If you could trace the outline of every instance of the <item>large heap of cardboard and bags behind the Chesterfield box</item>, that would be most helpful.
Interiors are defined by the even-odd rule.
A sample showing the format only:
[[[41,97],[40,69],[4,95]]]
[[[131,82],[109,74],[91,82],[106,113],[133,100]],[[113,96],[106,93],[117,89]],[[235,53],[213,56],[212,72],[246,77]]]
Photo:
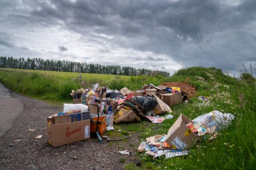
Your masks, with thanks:
[[[163,113],[172,113],[170,106],[183,101],[180,88],[166,86],[143,85],[140,90],[131,91],[124,87],[121,90],[111,90],[95,84],[89,89],[72,90],[73,103],[82,103],[89,108],[91,114],[106,115],[107,126],[113,122],[131,123],[141,119],[160,123],[172,115],[159,117]]]

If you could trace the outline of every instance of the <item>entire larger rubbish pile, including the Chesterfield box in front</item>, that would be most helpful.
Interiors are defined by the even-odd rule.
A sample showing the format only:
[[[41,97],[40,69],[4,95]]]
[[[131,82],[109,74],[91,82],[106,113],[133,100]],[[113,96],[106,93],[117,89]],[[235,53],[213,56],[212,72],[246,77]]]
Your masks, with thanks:
[[[161,123],[173,116],[160,115],[172,113],[170,106],[183,101],[179,87],[152,84],[134,91],[126,87],[111,90],[95,84],[88,89],[72,90],[70,94],[73,104],[64,103],[63,112],[47,117],[47,141],[54,147],[88,139],[91,133],[95,133],[101,143],[106,130],[114,130],[113,123],[142,119]]]

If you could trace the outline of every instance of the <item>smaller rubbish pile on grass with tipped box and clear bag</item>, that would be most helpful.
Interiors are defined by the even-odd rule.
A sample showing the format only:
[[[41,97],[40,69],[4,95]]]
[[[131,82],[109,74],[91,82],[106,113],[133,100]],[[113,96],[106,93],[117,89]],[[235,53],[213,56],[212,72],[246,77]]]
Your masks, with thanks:
[[[234,116],[230,113],[223,114],[213,111],[191,121],[188,117],[180,114],[177,121],[163,135],[155,135],[141,142],[138,152],[145,151],[146,154],[156,159],[165,155],[165,158],[186,155],[189,148],[200,140],[212,140],[217,137],[217,131],[228,127]]]

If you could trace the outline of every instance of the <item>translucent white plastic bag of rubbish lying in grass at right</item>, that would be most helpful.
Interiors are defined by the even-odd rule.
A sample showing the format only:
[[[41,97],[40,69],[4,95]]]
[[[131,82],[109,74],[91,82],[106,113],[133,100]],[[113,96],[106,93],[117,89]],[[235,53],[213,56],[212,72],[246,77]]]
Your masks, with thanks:
[[[231,113],[225,113],[219,111],[212,111],[210,113],[196,117],[193,122],[202,122],[208,128],[216,126],[216,131],[226,128],[231,124],[231,121],[234,119],[234,115]]]

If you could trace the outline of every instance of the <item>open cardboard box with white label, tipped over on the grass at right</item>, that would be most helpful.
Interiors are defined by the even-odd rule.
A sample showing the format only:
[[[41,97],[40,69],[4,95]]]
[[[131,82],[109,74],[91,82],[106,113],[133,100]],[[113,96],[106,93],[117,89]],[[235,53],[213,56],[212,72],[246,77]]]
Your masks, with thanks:
[[[180,114],[173,126],[169,128],[166,137],[166,143],[172,146],[174,149],[189,149],[194,143],[199,140],[198,136],[193,133],[187,124],[193,123],[188,117]]]

